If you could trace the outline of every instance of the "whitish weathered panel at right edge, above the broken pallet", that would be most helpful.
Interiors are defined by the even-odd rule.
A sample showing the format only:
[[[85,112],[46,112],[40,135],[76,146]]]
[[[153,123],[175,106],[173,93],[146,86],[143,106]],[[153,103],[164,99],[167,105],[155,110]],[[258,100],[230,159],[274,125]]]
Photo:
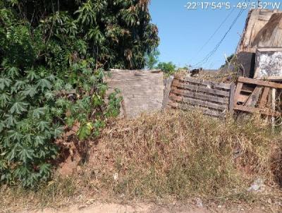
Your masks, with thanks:
[[[255,78],[282,80],[282,48],[257,49]]]

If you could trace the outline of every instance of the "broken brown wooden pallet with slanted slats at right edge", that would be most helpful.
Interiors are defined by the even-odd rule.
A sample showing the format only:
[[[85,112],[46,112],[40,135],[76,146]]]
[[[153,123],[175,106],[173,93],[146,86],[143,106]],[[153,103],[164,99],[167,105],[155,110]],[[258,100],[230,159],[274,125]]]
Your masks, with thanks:
[[[274,103],[278,89],[282,89],[282,84],[240,77],[234,94],[233,110],[281,116],[281,113],[275,110]],[[269,102],[271,104],[268,104]]]

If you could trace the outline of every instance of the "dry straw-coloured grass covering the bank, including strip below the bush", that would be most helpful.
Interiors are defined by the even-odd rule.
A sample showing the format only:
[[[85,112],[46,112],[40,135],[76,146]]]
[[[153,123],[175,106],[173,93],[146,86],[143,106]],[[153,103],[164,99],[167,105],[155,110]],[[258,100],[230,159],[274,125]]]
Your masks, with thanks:
[[[246,190],[250,183],[257,177],[269,184],[275,179],[278,136],[259,118],[240,124],[197,111],[112,121],[92,146],[90,162],[74,178],[56,179],[37,192],[2,188],[5,195],[0,203],[7,207],[23,195],[21,202],[33,197],[40,206],[68,203],[78,195],[125,200],[200,196],[252,202],[254,195]]]

